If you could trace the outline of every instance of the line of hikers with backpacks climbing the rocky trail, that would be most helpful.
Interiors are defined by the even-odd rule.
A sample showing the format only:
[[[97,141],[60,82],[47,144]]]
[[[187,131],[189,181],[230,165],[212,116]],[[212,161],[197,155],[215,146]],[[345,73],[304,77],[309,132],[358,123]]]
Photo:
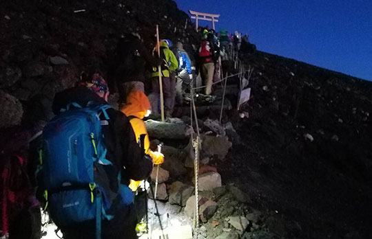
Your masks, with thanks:
[[[121,38],[113,67],[118,110],[107,103],[110,89],[99,69],[83,71],[75,87],[56,93],[55,117],[28,142],[32,142],[30,155],[39,162],[34,194],[63,238],[136,238],[134,194],[154,165],[164,161],[161,152],[150,148],[143,122],[150,113],[161,112],[159,74],[165,117],[172,117],[175,104],[191,100],[188,93],[196,85],[198,71],[203,93],[211,95],[220,69],[229,71],[231,51],[241,41],[241,36],[232,37],[225,30],[216,34],[200,28],[199,33],[200,45],[194,52],[186,52],[182,41],[173,45],[163,39],[151,52],[138,36]],[[12,178],[14,159],[17,167],[24,163],[14,148],[8,155],[3,182]],[[7,201],[14,192],[5,185]],[[39,205],[34,196],[30,198],[23,199]],[[2,208],[5,235],[11,226],[4,216],[8,206]]]

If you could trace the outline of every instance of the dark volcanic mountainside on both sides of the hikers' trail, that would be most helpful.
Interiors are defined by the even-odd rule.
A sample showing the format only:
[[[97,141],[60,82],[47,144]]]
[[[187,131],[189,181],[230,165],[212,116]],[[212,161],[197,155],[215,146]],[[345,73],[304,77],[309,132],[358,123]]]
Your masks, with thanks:
[[[81,70],[110,80],[121,34],[136,32],[152,49],[156,24],[163,38],[196,43],[173,1],[0,1],[0,92],[19,100],[23,123],[50,117],[54,93]],[[371,82],[262,52],[242,59],[254,67],[250,116],[227,114],[242,144],[217,163],[223,181],[245,190],[264,215],[260,229],[282,238],[372,238]]]

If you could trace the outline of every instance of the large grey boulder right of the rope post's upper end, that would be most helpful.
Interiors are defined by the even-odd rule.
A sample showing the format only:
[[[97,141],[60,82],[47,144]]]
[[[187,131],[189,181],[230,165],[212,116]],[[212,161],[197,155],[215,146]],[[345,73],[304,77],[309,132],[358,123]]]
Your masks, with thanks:
[[[214,156],[220,160],[223,160],[225,159],[231,146],[232,146],[232,143],[225,136],[216,137],[216,136],[203,135],[201,155],[209,156],[209,157]]]

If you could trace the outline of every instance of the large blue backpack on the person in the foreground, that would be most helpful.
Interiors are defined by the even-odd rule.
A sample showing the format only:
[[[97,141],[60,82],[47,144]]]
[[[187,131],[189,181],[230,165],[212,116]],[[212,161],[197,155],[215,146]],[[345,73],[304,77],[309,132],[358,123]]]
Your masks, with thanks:
[[[107,177],[114,166],[106,159],[101,125],[110,120],[109,108],[107,104],[81,107],[72,103],[43,130],[45,207],[58,227],[96,219],[96,238],[101,238],[101,220],[114,218],[113,201],[118,196],[121,205],[133,200],[129,187],[120,185],[120,172],[118,192],[112,192]]]

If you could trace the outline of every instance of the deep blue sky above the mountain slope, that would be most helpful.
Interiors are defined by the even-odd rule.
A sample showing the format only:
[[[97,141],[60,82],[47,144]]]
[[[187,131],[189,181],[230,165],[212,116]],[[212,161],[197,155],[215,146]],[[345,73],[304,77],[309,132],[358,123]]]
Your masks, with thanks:
[[[372,0],[176,0],[220,14],[216,29],[249,34],[263,52],[372,80]],[[202,22],[211,26],[211,23]]]

